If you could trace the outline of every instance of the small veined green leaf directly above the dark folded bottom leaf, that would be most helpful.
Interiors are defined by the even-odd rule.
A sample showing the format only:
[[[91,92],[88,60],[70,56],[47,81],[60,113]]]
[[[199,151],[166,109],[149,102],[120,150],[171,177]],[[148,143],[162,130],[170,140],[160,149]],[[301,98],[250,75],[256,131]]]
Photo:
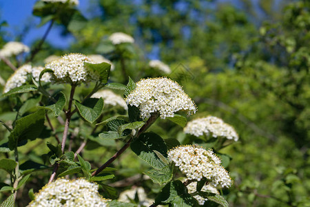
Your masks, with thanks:
[[[145,175],[148,175],[155,184],[166,184],[172,180],[173,177],[173,168],[165,166],[161,170],[149,170]]]

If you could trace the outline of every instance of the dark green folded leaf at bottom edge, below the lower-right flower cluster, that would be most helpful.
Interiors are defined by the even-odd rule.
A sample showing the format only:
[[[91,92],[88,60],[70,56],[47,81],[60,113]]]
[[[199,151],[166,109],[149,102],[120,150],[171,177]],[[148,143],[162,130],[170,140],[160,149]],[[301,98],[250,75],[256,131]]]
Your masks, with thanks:
[[[163,187],[155,199],[155,204],[169,204],[169,206],[189,207],[199,206],[196,199],[187,193],[187,188],[179,181],[171,181]]]

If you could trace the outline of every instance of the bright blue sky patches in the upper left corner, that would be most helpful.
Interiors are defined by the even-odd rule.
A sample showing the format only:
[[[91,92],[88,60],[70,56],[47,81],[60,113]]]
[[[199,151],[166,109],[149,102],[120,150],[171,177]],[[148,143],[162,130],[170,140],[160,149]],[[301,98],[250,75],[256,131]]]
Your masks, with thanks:
[[[3,27],[1,30],[6,31],[6,41],[12,41],[17,34],[23,30],[23,26],[34,21],[35,25],[31,28],[30,32],[25,35],[23,43],[30,46],[35,39],[43,36],[48,24],[37,28],[40,22],[39,17],[32,15],[32,7],[38,0],[0,0],[0,20],[7,21],[8,27]],[[79,10],[87,17],[87,0],[80,0]],[[67,48],[70,42],[74,41],[72,36],[61,37],[60,30],[53,27],[48,34],[47,41],[52,43],[57,48]]]

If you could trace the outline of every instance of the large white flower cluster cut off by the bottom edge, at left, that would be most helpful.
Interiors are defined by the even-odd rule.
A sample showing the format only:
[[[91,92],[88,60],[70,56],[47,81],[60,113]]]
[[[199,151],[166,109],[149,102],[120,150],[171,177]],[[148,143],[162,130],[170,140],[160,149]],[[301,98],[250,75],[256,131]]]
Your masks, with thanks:
[[[28,206],[108,206],[110,200],[101,197],[98,189],[97,184],[85,179],[56,179],[36,193]]]

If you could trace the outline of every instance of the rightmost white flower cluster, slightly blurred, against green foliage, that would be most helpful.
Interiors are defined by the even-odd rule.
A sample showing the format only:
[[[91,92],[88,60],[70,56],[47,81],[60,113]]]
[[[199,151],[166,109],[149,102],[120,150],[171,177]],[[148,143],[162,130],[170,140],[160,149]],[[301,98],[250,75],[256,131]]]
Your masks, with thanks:
[[[226,139],[238,141],[238,134],[234,128],[218,117],[208,116],[189,121],[184,128],[184,132],[186,134],[195,135],[196,137],[205,133],[207,136],[225,137]]]

